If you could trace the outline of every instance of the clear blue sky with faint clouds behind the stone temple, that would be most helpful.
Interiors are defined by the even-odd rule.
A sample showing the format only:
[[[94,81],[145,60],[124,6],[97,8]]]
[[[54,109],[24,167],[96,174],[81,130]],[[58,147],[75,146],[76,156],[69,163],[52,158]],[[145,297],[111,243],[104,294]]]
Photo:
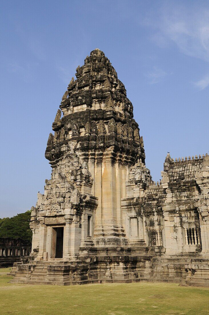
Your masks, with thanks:
[[[153,180],[167,152],[208,152],[208,1],[2,1],[0,26],[0,217],[43,193],[52,122],[95,48],[125,85]]]

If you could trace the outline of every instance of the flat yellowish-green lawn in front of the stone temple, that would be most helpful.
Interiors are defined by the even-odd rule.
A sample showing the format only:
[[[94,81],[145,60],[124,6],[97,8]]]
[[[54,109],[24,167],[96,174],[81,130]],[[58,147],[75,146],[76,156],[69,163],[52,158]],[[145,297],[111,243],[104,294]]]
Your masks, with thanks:
[[[132,283],[53,286],[10,284],[0,269],[0,314],[209,314],[209,289]]]

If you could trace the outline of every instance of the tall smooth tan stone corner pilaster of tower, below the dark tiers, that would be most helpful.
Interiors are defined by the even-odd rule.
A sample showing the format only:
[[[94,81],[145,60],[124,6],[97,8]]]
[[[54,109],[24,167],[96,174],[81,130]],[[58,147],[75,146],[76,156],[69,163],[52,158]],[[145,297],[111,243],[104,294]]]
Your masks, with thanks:
[[[99,158],[100,157],[100,158]],[[104,153],[96,158],[95,195],[96,209],[95,244],[125,245],[124,229],[121,224],[122,169],[113,161],[113,153]]]

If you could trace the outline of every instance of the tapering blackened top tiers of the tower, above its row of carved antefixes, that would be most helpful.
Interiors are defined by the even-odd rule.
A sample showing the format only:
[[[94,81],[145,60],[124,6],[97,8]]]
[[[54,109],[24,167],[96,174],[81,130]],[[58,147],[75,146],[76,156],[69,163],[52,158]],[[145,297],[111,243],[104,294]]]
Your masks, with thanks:
[[[64,115],[85,109],[112,107],[119,113],[133,117],[133,106],[126,97],[124,84],[103,51],[95,49],[76,69],[60,105]]]

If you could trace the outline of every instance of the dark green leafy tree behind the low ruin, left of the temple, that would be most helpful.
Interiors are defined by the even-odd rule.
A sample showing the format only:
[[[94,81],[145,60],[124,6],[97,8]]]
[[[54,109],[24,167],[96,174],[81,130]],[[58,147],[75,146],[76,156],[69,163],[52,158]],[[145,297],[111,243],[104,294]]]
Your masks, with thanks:
[[[0,237],[22,238],[31,242],[30,213],[31,210],[15,215],[12,218],[0,219]]]

